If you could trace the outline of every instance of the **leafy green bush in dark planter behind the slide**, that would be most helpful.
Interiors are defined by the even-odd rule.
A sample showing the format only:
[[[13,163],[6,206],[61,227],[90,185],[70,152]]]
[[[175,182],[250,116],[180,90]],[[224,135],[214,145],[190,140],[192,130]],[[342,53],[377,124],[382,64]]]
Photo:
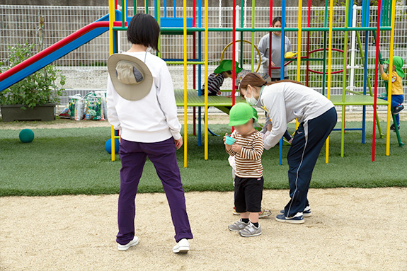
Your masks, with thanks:
[[[8,69],[33,55],[34,45],[9,47]],[[1,72],[6,61],[0,62]],[[48,65],[34,74],[0,92],[1,115],[4,122],[14,120],[55,120],[55,105],[64,94],[65,76],[53,65]]]

